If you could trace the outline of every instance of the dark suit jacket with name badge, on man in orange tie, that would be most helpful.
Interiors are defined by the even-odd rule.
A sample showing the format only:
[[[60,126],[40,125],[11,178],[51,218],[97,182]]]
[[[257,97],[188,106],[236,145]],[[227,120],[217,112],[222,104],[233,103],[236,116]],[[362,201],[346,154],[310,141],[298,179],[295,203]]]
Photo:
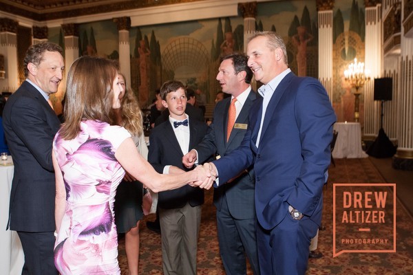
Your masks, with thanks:
[[[260,98],[260,96],[254,91],[250,91],[240,115],[238,115],[235,121],[235,126],[233,131],[231,131],[228,142],[226,142],[226,124],[228,124],[228,110],[231,104],[231,97],[217,103],[213,111],[211,132],[204,137],[204,140],[198,146],[195,146],[195,150],[198,151],[198,162],[200,164],[205,162],[211,153],[217,152],[218,155],[224,156],[240,146],[246,133],[246,128],[243,129],[243,127],[248,125],[248,113],[256,98]],[[231,212],[235,219],[255,218],[255,176],[252,167],[247,170],[248,173],[237,177],[230,184],[222,184],[222,186],[214,190],[213,201],[216,208],[221,210],[225,195],[229,212]]]

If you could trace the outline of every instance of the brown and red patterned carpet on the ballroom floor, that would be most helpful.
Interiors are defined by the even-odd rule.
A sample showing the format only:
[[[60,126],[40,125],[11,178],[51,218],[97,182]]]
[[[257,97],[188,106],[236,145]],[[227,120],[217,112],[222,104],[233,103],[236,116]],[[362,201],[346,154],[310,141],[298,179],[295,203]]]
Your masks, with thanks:
[[[319,232],[318,250],[324,256],[309,260],[307,274],[413,274],[413,219],[399,201],[396,202],[395,253],[343,253],[333,258],[332,184],[385,183],[368,158],[335,159],[335,163],[336,167],[329,170],[330,178],[324,197],[323,223],[326,230]],[[225,274],[218,249],[212,190],[206,192],[205,199],[198,244],[198,274]],[[162,274],[160,235],[148,230],[145,223],[153,219],[154,214],[145,217],[140,226],[140,274]],[[127,275],[125,239],[119,241],[118,259],[122,274]],[[248,271],[248,274],[252,272]]]

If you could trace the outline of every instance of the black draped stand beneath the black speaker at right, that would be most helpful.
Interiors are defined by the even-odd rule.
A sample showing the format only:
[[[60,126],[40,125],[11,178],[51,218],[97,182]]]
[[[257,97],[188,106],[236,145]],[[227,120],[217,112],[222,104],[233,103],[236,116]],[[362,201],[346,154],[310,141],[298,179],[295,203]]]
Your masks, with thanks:
[[[393,145],[383,129],[383,103],[384,100],[381,100],[381,122],[379,135],[377,135],[376,140],[374,140],[373,144],[366,151],[368,155],[377,158],[392,157],[396,153],[396,146]]]

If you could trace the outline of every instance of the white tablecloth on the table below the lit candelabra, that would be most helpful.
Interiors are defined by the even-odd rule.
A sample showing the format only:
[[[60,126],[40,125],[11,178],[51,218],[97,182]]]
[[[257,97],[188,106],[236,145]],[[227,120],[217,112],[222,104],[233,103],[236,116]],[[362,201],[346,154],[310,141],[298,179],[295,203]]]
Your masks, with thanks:
[[[368,155],[361,148],[361,126],[359,122],[336,122],[335,131],[339,132],[332,151],[334,158],[361,158]]]

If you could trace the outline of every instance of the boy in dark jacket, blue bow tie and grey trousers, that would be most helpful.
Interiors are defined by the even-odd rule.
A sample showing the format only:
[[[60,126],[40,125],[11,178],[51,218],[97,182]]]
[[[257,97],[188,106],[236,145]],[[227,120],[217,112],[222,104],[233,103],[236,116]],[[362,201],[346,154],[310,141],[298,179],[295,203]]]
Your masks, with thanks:
[[[183,173],[182,157],[198,144],[209,127],[185,113],[187,95],[180,81],[171,80],[160,89],[169,119],[152,129],[148,161],[158,173]],[[158,193],[164,274],[195,275],[198,234],[204,190],[183,186]]]

